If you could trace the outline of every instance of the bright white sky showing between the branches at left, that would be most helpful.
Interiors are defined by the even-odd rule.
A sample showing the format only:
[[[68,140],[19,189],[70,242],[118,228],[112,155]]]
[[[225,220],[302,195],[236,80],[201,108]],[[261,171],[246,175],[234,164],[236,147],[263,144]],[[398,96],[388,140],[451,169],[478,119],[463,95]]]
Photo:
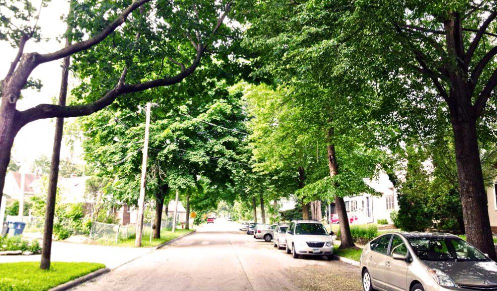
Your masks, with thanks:
[[[39,7],[40,0],[31,1],[35,7]],[[43,38],[48,41],[42,41],[39,44],[29,41],[26,44],[25,53],[38,52],[45,54],[54,52],[64,47],[63,43],[56,40],[64,34],[66,25],[61,20],[61,16],[67,14],[69,3],[66,0],[55,0],[49,3],[48,7],[42,9],[38,25],[41,27]],[[7,74],[9,66],[17,54],[17,49],[12,48],[7,42],[0,42],[0,79]],[[43,88],[40,92],[37,90],[24,90],[23,99],[18,101],[18,110],[25,110],[34,107],[40,103],[53,103],[59,96],[61,82],[61,62],[62,60],[53,61],[40,65],[32,73],[34,79],[40,79]],[[70,74],[69,86],[73,83]],[[67,119],[68,122],[74,122],[73,119]],[[21,129],[14,141],[12,157],[21,163],[23,170],[29,171],[33,161],[42,155],[51,156],[54,143],[55,119],[43,119],[32,122]],[[76,148],[75,156],[82,153],[80,147]],[[70,154],[69,147],[62,144],[61,156],[67,157]],[[81,159],[76,158],[76,162],[81,163]]]

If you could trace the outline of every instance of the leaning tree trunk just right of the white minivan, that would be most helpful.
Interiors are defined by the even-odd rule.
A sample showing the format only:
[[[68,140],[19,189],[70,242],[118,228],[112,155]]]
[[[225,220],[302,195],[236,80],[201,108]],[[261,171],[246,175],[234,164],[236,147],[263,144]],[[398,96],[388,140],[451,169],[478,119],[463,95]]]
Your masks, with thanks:
[[[328,130],[328,166],[330,168],[330,177],[333,178],[338,174],[338,162],[335,153],[335,145],[332,143],[334,135],[334,128]],[[350,233],[349,217],[347,216],[347,211],[345,209],[345,202],[342,197],[335,196],[335,209],[338,213],[338,219],[340,221],[340,247],[355,247],[354,241],[352,240],[352,234]]]

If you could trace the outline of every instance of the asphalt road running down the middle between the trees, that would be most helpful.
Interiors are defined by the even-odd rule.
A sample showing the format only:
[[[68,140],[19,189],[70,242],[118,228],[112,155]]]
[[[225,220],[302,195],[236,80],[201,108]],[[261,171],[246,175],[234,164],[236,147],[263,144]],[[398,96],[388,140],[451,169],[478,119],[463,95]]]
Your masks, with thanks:
[[[323,258],[294,259],[217,219],[78,290],[361,290],[359,269]]]

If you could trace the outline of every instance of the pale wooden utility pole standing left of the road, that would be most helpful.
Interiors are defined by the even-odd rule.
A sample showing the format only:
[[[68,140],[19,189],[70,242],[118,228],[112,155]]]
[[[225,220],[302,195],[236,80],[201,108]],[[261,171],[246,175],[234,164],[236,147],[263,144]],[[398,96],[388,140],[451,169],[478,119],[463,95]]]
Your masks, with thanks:
[[[148,102],[146,121],[145,121],[145,141],[143,142],[143,159],[141,164],[140,197],[138,198],[138,219],[136,221],[136,239],[135,239],[136,246],[141,246],[141,236],[143,234],[143,208],[145,207],[145,185],[146,185],[147,158],[148,158],[148,132],[150,129],[151,106],[152,104]]]

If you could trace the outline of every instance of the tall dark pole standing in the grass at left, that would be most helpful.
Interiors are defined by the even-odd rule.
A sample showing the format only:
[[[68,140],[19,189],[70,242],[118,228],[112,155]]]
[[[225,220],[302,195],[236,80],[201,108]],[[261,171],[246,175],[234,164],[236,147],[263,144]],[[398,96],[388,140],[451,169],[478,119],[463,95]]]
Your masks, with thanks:
[[[73,3],[70,2],[68,17],[72,15]],[[68,23],[66,30],[66,47],[71,45],[71,26]],[[67,56],[62,60],[62,80],[59,92],[59,105],[66,105],[67,83],[69,78],[69,64],[71,57]],[[57,196],[57,182],[59,180],[59,163],[62,145],[62,135],[64,131],[64,118],[57,118],[55,123],[54,148],[52,151],[52,164],[50,165],[50,177],[47,193],[47,210],[45,212],[45,227],[43,232],[42,259],[40,268],[50,269],[52,253],[52,234],[54,231],[54,214]]]

